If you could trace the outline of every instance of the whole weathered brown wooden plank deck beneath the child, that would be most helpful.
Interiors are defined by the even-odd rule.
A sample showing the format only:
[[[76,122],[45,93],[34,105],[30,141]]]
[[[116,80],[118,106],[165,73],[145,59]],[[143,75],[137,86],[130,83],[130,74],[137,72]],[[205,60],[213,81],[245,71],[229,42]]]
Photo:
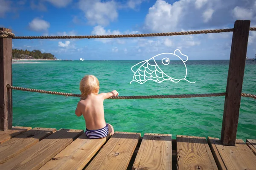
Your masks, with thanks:
[[[218,138],[13,127],[0,131],[0,170],[256,170],[256,140],[223,146]]]

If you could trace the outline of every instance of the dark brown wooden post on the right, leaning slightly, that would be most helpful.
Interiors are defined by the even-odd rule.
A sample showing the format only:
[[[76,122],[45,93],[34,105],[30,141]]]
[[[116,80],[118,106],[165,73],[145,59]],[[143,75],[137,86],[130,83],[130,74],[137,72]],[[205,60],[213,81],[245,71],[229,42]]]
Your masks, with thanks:
[[[249,29],[250,20],[237,20],[234,24],[227,75],[227,96],[225,98],[221,129],[221,142],[223,145],[236,145]]]

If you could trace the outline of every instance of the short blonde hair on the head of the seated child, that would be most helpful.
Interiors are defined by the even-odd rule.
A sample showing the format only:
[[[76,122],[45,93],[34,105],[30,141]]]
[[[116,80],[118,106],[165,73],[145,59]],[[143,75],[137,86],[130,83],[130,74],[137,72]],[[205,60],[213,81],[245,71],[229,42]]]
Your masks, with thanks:
[[[86,75],[81,79],[80,91],[81,100],[84,100],[87,95],[94,93],[96,94],[99,90],[99,80],[93,75]]]

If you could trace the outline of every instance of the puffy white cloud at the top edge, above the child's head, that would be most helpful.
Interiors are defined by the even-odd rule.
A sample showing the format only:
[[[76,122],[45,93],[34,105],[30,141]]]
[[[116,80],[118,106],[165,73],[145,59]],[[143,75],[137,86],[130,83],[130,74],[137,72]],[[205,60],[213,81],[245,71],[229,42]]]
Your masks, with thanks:
[[[107,26],[117,19],[117,5],[111,0],[100,2],[100,0],[79,0],[79,8],[84,11],[85,17],[90,25]]]

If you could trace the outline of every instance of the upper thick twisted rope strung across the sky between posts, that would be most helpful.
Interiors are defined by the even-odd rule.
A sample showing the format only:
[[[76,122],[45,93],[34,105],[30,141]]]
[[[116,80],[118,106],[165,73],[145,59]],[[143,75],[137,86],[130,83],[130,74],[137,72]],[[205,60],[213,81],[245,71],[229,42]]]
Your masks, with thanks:
[[[166,33],[152,33],[152,34],[120,34],[120,35],[72,35],[72,36],[19,36],[8,31],[0,31],[0,38],[12,39],[81,39],[81,38],[128,38],[128,37],[160,37],[160,36],[173,36],[173,35],[189,35],[189,34],[208,34],[208,33],[221,33],[233,32],[234,28],[227,29],[213,29],[201,31],[184,31],[184,32],[166,32]],[[256,31],[256,27],[251,27],[250,31]]]

